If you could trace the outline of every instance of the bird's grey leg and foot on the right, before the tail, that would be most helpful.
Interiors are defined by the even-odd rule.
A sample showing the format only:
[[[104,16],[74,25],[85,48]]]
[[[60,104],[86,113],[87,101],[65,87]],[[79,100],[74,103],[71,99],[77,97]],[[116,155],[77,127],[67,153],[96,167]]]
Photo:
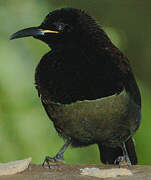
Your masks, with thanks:
[[[119,167],[121,165],[128,165],[128,166],[130,166],[131,165],[131,161],[129,159],[125,143],[122,144],[121,148],[122,148],[122,151],[123,151],[123,156],[119,156],[115,160],[114,164],[119,164]]]

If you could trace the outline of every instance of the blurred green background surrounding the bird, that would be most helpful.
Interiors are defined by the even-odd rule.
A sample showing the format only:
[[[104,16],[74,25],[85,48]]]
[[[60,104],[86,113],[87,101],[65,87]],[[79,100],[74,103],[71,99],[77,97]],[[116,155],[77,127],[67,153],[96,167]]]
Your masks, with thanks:
[[[126,54],[142,94],[142,124],[135,135],[139,164],[151,164],[151,1],[143,0],[7,0],[0,1],[0,162],[31,156],[42,163],[64,141],[44,112],[34,87],[34,70],[49,51],[32,38],[9,36],[39,25],[49,11],[61,7],[86,10],[101,23]],[[67,163],[100,164],[96,145],[68,148]]]

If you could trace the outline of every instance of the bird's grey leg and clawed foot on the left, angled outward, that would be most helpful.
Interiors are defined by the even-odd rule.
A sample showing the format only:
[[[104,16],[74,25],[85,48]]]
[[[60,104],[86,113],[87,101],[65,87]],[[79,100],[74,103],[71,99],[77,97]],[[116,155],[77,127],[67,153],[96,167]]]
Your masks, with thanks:
[[[62,146],[60,151],[53,158],[46,156],[42,166],[44,167],[45,163],[47,163],[48,167],[50,168],[50,164],[58,165],[59,163],[65,163],[63,154],[70,144],[71,139],[68,139],[67,142]]]

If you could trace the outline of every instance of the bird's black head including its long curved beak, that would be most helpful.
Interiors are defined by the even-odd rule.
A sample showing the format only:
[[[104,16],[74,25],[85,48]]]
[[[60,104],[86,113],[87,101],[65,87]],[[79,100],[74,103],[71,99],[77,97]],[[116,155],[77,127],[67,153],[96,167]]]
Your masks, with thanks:
[[[82,37],[100,29],[95,20],[85,12],[74,8],[62,8],[49,13],[42,24],[14,33],[10,39],[33,36],[50,47],[80,43]],[[87,35],[86,35],[87,34]]]

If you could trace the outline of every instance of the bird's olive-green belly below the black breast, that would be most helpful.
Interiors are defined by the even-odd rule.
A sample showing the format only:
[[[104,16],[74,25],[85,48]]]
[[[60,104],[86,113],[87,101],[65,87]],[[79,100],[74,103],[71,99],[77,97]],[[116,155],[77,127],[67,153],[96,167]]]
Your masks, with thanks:
[[[141,116],[140,107],[125,90],[97,100],[49,106],[49,115],[58,132],[86,144],[117,146],[135,133]]]

